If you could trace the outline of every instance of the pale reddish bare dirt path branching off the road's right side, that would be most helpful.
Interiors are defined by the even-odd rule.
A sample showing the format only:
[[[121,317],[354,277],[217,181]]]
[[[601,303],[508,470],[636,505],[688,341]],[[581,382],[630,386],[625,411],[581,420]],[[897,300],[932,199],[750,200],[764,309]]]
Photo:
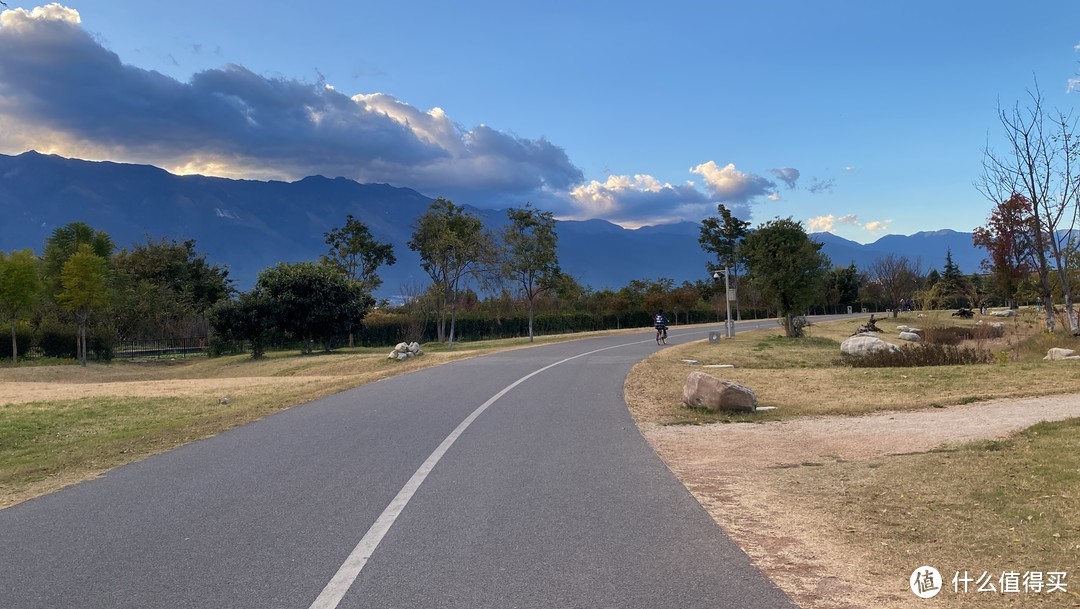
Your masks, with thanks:
[[[775,476],[791,466],[924,452],[999,439],[1040,421],[1080,417],[1080,395],[994,401],[949,408],[813,417],[761,424],[642,424],[660,457],[754,561],[805,609],[920,607],[873,560],[808,513],[800,489]],[[926,601],[921,601],[926,603]]]

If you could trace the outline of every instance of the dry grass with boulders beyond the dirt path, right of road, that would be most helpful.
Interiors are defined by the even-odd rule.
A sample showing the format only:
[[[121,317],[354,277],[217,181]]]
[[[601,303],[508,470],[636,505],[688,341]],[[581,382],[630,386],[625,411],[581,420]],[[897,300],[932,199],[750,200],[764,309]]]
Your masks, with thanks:
[[[897,325],[928,323],[974,324],[974,321],[901,316],[878,322],[882,338],[899,342]],[[971,402],[1028,397],[1054,393],[1080,393],[1080,375],[1063,375],[1062,362],[1043,362],[1045,349],[1036,357],[1024,341],[1038,334],[1025,316],[1007,320],[1005,336],[970,341],[971,347],[1002,353],[1003,364],[984,366],[931,366],[918,368],[851,368],[836,365],[839,343],[854,333],[861,320],[815,325],[810,336],[789,340],[780,330],[757,330],[721,339],[667,349],[635,368],[627,379],[626,395],[639,423],[702,423],[747,420],[743,416],[711,415],[688,410],[681,404],[683,382],[691,369],[685,360],[702,365],[733,365],[705,369],[714,376],[754,389],[761,406],[775,406],[753,420],[775,420],[811,415],[864,415],[879,410],[919,409]],[[1080,348],[1075,339],[1074,348]],[[1041,344],[1041,343],[1040,343]],[[1048,340],[1047,344],[1051,344]],[[1056,344],[1056,343],[1054,343]],[[1026,361],[1010,360],[1022,358]],[[1035,357],[1032,360],[1032,357]]]

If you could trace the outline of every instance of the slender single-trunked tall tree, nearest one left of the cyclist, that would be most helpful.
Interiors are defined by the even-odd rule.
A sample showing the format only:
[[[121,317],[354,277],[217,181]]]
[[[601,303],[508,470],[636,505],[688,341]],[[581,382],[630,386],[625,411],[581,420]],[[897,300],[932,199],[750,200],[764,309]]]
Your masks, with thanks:
[[[558,235],[555,233],[555,218],[551,212],[541,212],[528,203],[519,209],[508,209],[507,217],[510,224],[502,234],[502,274],[522,289],[528,307],[529,342],[532,342],[537,298],[554,289],[562,274],[556,252]]]

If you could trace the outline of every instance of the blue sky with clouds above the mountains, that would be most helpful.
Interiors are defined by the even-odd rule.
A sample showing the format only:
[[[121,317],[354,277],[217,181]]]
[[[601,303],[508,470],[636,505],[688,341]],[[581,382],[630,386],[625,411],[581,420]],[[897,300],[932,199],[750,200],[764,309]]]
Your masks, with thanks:
[[[970,231],[998,107],[1080,95],[1072,0],[8,4],[0,152],[632,228]]]

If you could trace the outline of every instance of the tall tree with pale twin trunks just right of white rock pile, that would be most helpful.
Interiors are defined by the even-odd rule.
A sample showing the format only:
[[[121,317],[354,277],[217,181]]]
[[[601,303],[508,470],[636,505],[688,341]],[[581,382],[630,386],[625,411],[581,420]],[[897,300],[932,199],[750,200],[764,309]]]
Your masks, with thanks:
[[[432,281],[437,340],[453,347],[461,283],[469,276],[477,276],[495,260],[495,241],[484,231],[480,218],[438,198],[417,219],[408,246],[420,255],[423,270]],[[448,336],[447,308],[450,315]]]

